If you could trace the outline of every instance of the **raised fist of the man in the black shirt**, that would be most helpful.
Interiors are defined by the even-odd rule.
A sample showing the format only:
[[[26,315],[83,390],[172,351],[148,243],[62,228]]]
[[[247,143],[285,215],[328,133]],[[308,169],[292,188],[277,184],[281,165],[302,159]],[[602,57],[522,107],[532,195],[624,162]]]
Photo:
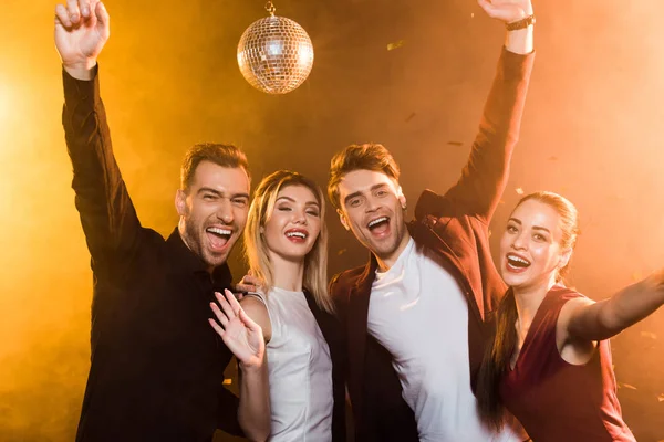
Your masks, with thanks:
[[[101,1],[66,0],[66,7],[55,7],[55,48],[70,75],[89,80],[110,34],[108,12]]]

